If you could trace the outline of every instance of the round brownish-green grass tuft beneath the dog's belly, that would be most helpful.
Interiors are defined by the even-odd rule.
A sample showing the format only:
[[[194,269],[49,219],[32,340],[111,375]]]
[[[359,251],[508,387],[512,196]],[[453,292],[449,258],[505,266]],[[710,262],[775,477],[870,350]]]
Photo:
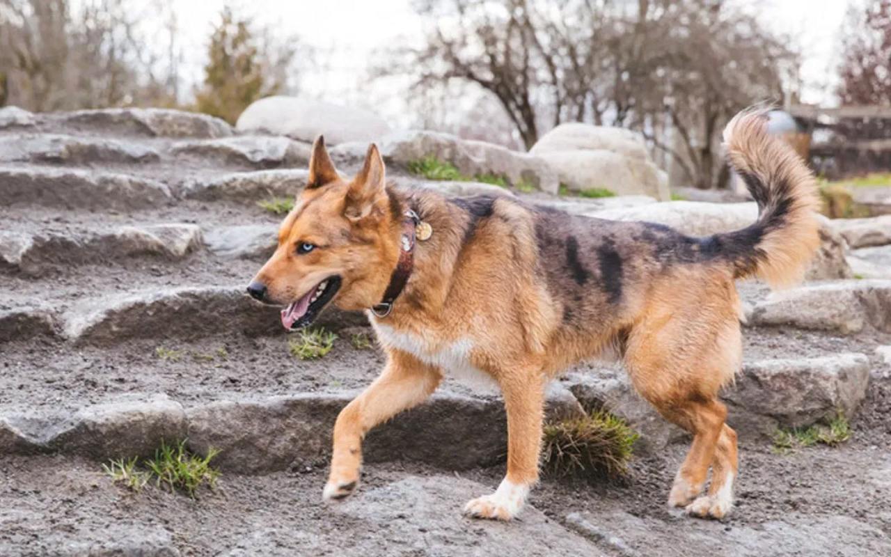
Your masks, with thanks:
[[[557,477],[623,478],[634,453],[636,431],[603,410],[544,426],[544,469]]]

